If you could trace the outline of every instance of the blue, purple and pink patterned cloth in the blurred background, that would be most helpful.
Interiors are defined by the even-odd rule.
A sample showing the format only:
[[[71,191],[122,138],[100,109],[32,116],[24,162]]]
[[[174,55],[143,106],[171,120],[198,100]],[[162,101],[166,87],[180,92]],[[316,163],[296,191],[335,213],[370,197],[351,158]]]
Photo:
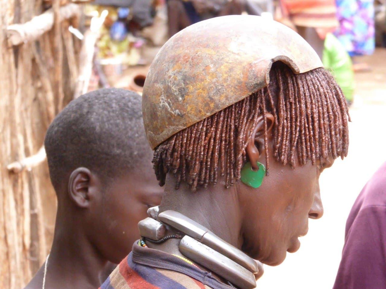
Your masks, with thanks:
[[[375,48],[374,0],[336,0],[339,28],[335,36],[350,56],[369,55]]]

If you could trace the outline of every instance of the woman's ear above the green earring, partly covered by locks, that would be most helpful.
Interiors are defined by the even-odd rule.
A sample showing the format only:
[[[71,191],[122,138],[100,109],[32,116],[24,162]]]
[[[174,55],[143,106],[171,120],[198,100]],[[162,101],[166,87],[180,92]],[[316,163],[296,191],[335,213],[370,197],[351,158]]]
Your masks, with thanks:
[[[272,139],[272,129],[275,123],[275,118],[272,113],[267,112],[265,114],[267,120],[267,141]],[[257,118],[257,124],[252,132],[251,137],[248,139],[248,145],[246,148],[247,156],[251,162],[252,169],[259,169],[257,162],[262,153],[264,153],[264,117],[259,115]]]

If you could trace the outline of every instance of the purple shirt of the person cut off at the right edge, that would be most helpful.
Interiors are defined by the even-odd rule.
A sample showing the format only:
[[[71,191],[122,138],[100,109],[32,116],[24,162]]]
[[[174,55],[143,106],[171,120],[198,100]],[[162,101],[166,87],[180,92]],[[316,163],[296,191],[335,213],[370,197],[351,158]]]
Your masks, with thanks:
[[[362,189],[346,223],[334,289],[386,288],[386,163]]]

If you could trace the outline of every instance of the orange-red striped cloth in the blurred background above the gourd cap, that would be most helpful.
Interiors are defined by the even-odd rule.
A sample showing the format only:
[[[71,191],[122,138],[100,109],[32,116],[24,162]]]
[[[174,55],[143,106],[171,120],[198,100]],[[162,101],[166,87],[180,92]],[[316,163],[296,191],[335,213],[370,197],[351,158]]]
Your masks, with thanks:
[[[296,26],[335,28],[337,7],[335,0],[280,0],[284,17],[289,17]]]

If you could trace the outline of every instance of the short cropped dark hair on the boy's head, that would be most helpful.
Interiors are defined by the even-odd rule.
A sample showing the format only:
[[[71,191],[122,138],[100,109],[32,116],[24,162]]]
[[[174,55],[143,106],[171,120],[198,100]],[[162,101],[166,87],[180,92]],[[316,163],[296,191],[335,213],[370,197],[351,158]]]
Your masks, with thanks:
[[[141,96],[106,88],[67,105],[47,130],[44,145],[51,182],[57,190],[71,172],[86,167],[103,181],[151,159]]]

